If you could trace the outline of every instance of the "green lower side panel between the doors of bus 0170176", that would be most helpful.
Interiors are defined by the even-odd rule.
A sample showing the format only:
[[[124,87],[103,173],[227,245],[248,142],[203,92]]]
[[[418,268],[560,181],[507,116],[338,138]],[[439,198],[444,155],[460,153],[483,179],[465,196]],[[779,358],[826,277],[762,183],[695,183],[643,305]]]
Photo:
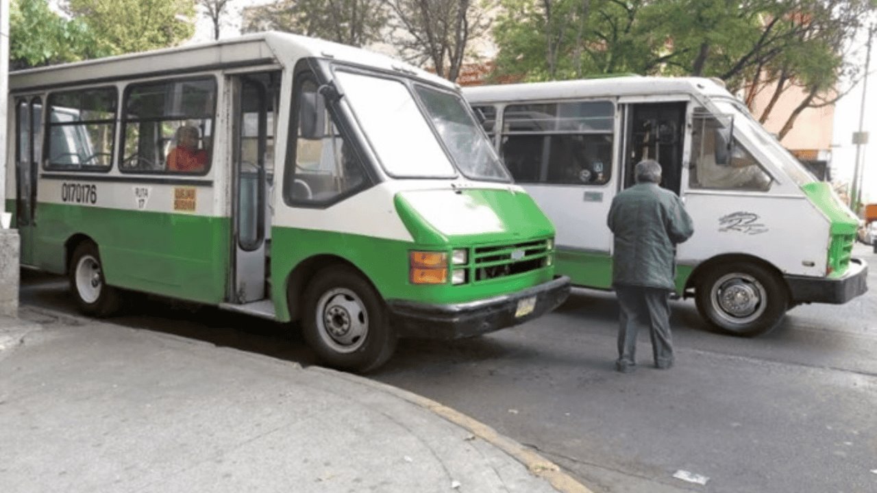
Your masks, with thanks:
[[[37,204],[37,267],[65,273],[65,245],[92,239],[111,286],[219,304],[225,299],[231,241],[228,218],[103,207]]]

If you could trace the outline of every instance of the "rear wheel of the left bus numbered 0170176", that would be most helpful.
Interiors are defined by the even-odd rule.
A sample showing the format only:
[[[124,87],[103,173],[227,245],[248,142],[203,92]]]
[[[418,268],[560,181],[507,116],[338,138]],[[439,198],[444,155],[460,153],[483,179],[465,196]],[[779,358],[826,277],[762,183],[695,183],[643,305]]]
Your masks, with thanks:
[[[103,279],[101,257],[94,243],[84,241],[76,246],[70,259],[69,277],[70,290],[82,313],[107,317],[118,310],[118,291],[107,286]]]

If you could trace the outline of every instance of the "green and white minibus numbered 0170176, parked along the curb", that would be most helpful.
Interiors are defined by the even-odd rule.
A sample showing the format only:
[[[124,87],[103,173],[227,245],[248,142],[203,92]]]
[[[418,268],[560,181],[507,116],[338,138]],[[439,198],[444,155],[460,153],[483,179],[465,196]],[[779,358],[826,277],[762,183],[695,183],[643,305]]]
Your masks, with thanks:
[[[267,32],[13,73],[9,97],[21,262],[86,313],[124,289],[297,320],[367,371],[567,297],[459,89],[401,62]]]

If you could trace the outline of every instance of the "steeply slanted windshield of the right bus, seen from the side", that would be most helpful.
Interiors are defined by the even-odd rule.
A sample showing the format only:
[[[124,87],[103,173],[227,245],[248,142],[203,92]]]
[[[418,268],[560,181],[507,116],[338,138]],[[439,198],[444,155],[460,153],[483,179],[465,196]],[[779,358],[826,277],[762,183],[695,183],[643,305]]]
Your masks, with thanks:
[[[752,118],[752,115],[745,109],[743,104],[730,99],[713,99],[717,109],[721,113],[734,115],[734,132],[740,132],[746,136],[752,145],[758,148],[773,161],[777,166],[791,178],[798,186],[806,185],[810,182],[816,182],[816,177],[810,174],[807,168],[804,168],[795,156],[768,133],[759,122]]]

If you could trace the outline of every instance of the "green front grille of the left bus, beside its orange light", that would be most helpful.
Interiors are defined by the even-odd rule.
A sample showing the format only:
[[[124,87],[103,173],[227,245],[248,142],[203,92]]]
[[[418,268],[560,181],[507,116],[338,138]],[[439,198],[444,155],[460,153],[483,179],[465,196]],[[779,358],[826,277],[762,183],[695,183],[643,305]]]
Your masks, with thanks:
[[[507,245],[475,247],[472,261],[474,282],[523,274],[548,265],[547,239]]]

